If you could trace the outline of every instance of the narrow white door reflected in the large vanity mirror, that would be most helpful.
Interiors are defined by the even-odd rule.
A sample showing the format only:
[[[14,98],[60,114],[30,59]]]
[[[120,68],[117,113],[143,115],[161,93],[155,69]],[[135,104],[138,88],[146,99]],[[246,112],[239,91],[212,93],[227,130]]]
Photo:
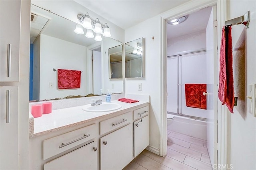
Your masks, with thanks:
[[[92,51],[93,65],[93,94],[100,94],[101,86],[101,52]]]

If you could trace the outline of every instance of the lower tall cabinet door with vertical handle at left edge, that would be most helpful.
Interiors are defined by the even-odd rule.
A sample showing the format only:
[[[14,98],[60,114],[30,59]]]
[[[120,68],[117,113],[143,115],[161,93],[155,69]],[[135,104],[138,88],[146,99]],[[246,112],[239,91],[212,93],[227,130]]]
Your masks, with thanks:
[[[0,169],[18,169],[18,86],[0,87]]]

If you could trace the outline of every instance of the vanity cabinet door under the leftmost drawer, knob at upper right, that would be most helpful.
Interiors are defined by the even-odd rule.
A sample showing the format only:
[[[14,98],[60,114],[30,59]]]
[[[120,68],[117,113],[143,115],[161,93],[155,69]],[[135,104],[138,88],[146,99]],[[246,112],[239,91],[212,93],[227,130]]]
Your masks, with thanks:
[[[44,164],[44,170],[96,170],[97,142],[92,142]]]

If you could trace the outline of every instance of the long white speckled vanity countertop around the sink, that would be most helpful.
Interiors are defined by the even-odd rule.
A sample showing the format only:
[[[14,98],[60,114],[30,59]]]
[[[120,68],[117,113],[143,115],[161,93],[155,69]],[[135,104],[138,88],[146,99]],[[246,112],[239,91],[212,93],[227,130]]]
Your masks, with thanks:
[[[127,94],[125,95],[125,97],[132,98],[134,100],[140,100],[140,101],[130,104],[125,102],[120,102],[118,100],[112,100],[111,101],[112,103],[118,103],[122,107],[118,110],[113,110],[109,112],[86,112],[82,110],[82,107],[84,106],[82,105],[82,106],[74,106],[69,108],[60,108],[60,109],[52,110],[52,113],[43,114],[39,118],[33,118],[33,116],[30,113],[30,120],[29,120],[30,138],[39,136],[42,134],[47,134],[63,128],[68,128],[71,126],[82,124],[85,122],[90,122],[93,120],[104,118],[112,114],[118,114],[124,110],[130,110],[136,106],[147,104],[150,102],[149,96],[146,96],[146,95]]]

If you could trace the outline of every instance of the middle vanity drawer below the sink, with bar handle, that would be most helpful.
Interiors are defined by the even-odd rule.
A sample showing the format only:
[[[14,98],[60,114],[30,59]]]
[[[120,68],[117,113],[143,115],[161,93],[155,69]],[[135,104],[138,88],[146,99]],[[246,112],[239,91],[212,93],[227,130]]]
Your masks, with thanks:
[[[132,112],[110,118],[100,122],[100,135],[105,134],[111,130],[117,129],[121,126],[129,124],[132,121]]]

